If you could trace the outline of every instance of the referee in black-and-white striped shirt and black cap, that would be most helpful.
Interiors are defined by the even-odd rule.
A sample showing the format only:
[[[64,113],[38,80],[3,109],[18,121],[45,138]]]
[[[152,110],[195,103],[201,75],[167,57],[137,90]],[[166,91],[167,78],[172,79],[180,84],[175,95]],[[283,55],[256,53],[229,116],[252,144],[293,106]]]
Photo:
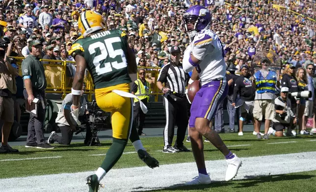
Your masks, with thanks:
[[[166,126],[163,131],[164,153],[175,153],[178,151],[190,151],[184,144],[186,127],[188,124],[185,84],[189,79],[187,73],[182,69],[179,62],[181,51],[180,47],[171,47],[171,62],[164,65],[158,75],[157,87],[163,93],[163,105],[166,110]],[[165,84],[165,87],[162,86]],[[172,147],[175,124],[178,126],[177,140]]]

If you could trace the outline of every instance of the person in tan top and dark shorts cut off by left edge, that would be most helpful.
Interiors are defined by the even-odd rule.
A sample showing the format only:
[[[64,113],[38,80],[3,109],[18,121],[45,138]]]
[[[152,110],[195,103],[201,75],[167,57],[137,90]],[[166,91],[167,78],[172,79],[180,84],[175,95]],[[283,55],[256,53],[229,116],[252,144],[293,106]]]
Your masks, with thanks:
[[[11,66],[8,59],[13,45],[8,43],[8,41],[0,39],[0,118],[4,121],[0,153],[19,152],[18,149],[13,149],[8,144],[11,126],[14,121],[12,94],[15,94],[17,90],[15,84],[16,70]]]

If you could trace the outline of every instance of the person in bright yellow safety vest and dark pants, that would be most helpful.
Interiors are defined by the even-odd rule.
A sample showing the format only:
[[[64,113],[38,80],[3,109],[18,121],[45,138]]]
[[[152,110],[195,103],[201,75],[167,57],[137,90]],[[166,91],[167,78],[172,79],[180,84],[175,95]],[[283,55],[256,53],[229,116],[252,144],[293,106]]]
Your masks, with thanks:
[[[145,79],[145,69],[140,68],[138,69],[138,79],[134,81],[134,84],[132,86],[132,94],[137,96],[145,105],[147,105],[147,101],[149,99],[149,83]],[[134,98],[134,104],[133,104],[133,119],[134,122],[138,122],[139,118],[139,124],[138,124],[138,135],[146,135],[143,133],[143,126],[145,121],[144,112],[140,108],[140,104],[138,102],[138,99]]]

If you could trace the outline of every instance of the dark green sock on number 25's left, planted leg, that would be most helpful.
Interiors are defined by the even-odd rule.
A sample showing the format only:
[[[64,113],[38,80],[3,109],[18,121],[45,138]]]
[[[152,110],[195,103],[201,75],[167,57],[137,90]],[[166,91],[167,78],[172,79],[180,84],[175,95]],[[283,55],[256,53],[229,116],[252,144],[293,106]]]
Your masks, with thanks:
[[[120,159],[127,144],[126,139],[116,139],[113,138],[113,143],[110,148],[106,152],[105,160],[103,161],[102,165],[100,166],[108,172]]]

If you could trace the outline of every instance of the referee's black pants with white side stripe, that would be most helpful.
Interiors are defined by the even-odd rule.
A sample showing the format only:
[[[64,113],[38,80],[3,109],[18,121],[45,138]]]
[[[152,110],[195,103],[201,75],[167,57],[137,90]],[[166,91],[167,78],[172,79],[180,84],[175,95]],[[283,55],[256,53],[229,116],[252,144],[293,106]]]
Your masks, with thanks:
[[[172,145],[175,125],[178,126],[177,140],[174,146],[182,147],[188,124],[186,98],[164,94],[163,106],[166,113],[166,126],[163,130],[164,149]]]

